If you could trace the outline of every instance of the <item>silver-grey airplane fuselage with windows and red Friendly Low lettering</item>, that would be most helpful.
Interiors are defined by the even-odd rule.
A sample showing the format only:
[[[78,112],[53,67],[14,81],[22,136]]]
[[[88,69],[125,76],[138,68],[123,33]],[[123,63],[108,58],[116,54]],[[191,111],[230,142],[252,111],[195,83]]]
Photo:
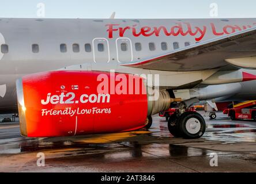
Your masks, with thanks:
[[[160,86],[173,88],[204,80],[216,71],[194,66],[158,71],[122,64],[255,26],[255,18],[191,20],[0,20],[0,113],[17,108],[17,78],[41,71],[97,70],[160,74]],[[225,66],[225,63],[223,63]],[[65,68],[66,67],[66,68]],[[180,75],[180,76],[179,76]],[[190,76],[190,77],[186,77]],[[177,80],[179,79],[179,80]]]

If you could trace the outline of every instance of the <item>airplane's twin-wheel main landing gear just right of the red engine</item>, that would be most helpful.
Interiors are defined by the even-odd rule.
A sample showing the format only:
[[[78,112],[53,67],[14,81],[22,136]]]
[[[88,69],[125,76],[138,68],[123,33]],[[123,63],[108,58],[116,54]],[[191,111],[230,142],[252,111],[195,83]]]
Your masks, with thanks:
[[[187,106],[182,102],[176,113],[169,118],[168,129],[175,137],[198,139],[204,135],[206,124],[201,114],[187,111]]]

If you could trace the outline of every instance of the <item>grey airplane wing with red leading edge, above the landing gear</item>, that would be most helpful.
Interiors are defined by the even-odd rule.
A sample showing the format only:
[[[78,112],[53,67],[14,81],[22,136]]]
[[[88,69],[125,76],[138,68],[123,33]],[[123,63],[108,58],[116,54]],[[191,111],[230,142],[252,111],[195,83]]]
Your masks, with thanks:
[[[224,66],[256,68],[255,56],[254,27],[123,66],[162,71],[199,71]]]

